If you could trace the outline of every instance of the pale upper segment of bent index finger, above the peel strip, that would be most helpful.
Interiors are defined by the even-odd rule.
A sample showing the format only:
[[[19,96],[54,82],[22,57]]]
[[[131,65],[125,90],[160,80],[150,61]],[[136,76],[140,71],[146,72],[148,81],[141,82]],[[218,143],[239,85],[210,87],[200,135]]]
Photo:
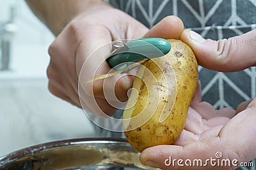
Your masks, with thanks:
[[[105,61],[111,53],[111,34],[108,29],[99,27],[85,30],[87,36],[76,52],[76,68],[79,81],[89,80],[110,70]]]

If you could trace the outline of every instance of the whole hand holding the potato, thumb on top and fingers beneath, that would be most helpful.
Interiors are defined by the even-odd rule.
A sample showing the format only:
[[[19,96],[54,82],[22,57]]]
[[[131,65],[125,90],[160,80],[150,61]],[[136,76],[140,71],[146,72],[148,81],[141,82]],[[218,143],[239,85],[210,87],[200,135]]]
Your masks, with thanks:
[[[213,41],[185,30],[180,39],[187,43],[195,52],[198,64],[216,71],[239,71],[256,66],[256,30],[230,39]],[[201,102],[200,87],[188,111],[184,131],[175,145],[160,145],[147,148],[141,153],[140,160],[148,166],[161,169],[181,169],[177,166],[165,166],[164,161],[173,159],[183,161],[190,159],[217,159],[216,153],[221,152],[221,159],[230,160],[230,166],[185,166],[186,169],[234,169],[232,160],[248,162],[256,158],[256,98],[248,106],[241,104],[236,111],[224,108],[214,110],[205,102]],[[244,110],[245,109],[245,110]],[[184,164],[184,162],[182,162]]]

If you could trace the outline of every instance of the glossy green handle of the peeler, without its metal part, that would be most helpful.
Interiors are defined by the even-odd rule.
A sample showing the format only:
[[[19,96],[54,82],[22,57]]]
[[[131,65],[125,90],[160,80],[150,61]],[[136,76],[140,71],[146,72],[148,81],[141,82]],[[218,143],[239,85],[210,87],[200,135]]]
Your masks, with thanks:
[[[138,62],[142,59],[161,57],[166,55],[166,53],[170,52],[171,50],[171,44],[169,41],[163,38],[136,39],[125,45],[129,48],[129,50],[116,53],[107,59],[107,62],[111,68],[124,62]],[[151,45],[155,46],[156,48],[152,48]]]

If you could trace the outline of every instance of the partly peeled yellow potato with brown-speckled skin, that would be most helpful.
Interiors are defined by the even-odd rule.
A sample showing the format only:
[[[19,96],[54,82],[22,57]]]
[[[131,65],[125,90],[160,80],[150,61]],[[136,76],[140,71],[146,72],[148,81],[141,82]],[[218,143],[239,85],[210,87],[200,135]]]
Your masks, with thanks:
[[[198,67],[191,48],[168,39],[172,49],[140,67],[124,111],[125,136],[142,152],[156,145],[172,145],[184,129],[189,104],[198,83]],[[142,80],[143,81],[142,81]],[[138,92],[137,92],[138,91]]]

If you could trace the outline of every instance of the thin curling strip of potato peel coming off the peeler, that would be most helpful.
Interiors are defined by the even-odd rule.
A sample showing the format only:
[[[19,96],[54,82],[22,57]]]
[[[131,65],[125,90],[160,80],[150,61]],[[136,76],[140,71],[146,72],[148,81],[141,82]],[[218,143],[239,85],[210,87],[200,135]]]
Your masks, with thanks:
[[[96,76],[96,77],[93,77],[87,81],[85,81],[82,85],[85,85],[85,84],[88,84],[88,83],[92,83],[93,81],[97,81],[97,80],[102,80],[104,78],[108,78],[108,77],[111,77],[111,76],[115,76],[116,74],[119,74],[119,73],[123,73],[129,69],[133,69],[134,67],[136,66],[139,66],[141,64],[143,64],[144,62],[146,62],[148,59],[143,59],[143,60],[140,60],[139,62],[135,62],[134,64],[131,64],[130,66],[127,66],[125,67],[124,69],[121,69],[119,71],[115,71],[113,73],[108,73],[108,74],[102,74],[102,75],[99,75],[99,76]]]

